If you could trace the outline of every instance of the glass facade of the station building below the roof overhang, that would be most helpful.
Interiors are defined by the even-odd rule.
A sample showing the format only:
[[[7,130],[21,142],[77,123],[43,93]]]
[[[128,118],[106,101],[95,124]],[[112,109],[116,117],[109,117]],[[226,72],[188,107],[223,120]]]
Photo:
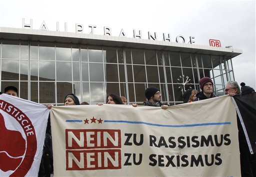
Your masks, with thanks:
[[[105,102],[108,93],[142,104],[144,90],[155,86],[162,102],[182,103],[188,88],[199,90],[198,80],[212,78],[217,95],[234,80],[231,58],[189,52],[0,40],[0,87],[16,86],[19,97],[43,104],[63,104],[73,92],[80,102]],[[187,82],[186,84],[183,84]]]

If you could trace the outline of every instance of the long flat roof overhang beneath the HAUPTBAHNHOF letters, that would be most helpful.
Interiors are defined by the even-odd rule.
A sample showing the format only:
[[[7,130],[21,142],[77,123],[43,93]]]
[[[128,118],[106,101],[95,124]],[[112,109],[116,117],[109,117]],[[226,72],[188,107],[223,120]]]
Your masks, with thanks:
[[[222,55],[222,56],[227,56],[231,58],[242,53],[241,49],[213,47],[213,46],[207,46],[207,45],[198,45],[194,43],[193,44],[177,43],[177,42],[151,40],[151,39],[149,40],[149,39],[118,37],[118,36],[109,36],[109,35],[50,31],[50,30],[41,30],[41,29],[12,28],[12,27],[0,27],[0,38],[170,50],[170,51]]]

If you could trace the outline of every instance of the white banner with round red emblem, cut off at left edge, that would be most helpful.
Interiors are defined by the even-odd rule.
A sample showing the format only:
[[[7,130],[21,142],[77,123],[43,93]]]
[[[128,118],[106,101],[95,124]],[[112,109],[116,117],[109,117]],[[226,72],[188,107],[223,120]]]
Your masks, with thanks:
[[[37,176],[49,109],[0,95],[0,176]]]

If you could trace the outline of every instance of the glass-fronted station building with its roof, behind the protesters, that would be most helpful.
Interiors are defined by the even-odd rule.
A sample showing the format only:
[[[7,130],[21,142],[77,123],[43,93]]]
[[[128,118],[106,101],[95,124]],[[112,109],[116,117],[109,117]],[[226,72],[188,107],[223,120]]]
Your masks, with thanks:
[[[143,39],[134,30],[127,37],[123,29],[113,36],[107,28],[99,35],[50,31],[45,23],[41,29],[22,25],[0,27],[0,88],[14,85],[19,97],[39,103],[63,105],[73,92],[80,102],[105,102],[108,93],[116,93],[140,104],[145,88],[155,86],[162,102],[173,105],[182,102],[184,90],[199,90],[203,76],[223,95],[225,82],[234,80],[232,58],[242,53],[195,44],[193,36],[186,43],[182,35],[171,42],[169,34],[160,41],[156,34]]]

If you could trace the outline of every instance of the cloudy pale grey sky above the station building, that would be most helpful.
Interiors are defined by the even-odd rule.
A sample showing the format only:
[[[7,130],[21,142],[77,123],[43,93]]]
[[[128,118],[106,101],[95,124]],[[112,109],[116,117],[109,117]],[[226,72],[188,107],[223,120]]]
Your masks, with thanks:
[[[45,21],[49,30],[75,32],[75,24],[96,25],[95,34],[103,35],[108,26],[113,36],[121,29],[132,37],[133,29],[170,33],[174,41],[183,35],[188,41],[195,36],[195,44],[209,45],[209,39],[220,40],[221,46],[231,45],[242,54],[232,59],[235,81],[256,88],[256,0],[0,0],[0,26],[22,27],[32,19],[33,29]]]

